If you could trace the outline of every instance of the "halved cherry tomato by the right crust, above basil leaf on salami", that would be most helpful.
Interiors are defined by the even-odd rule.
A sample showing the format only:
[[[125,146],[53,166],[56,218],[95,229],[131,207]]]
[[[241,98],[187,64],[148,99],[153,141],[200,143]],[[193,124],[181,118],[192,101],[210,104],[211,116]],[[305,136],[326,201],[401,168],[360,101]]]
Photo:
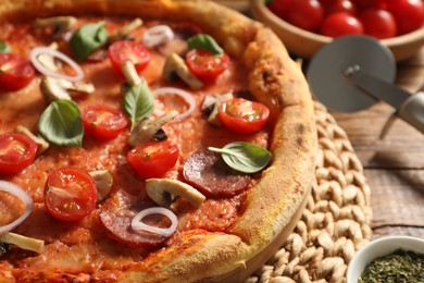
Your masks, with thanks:
[[[229,130],[239,134],[250,134],[266,124],[270,109],[260,102],[234,98],[221,104],[219,115]]]

